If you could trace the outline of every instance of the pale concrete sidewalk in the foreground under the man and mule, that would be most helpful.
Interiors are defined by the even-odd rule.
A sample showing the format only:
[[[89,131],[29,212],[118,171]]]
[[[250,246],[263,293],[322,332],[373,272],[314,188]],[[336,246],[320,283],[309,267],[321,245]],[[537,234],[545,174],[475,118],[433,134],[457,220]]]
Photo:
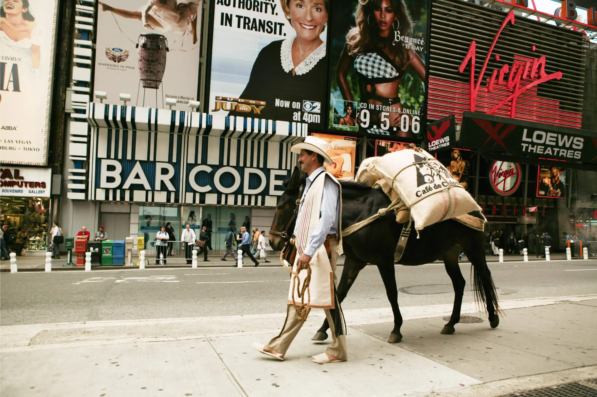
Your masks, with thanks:
[[[390,309],[347,310],[349,361],[334,365],[310,362],[328,344],[310,340],[321,310],[284,362],[251,347],[278,333],[283,313],[0,327],[0,393],[489,397],[597,377],[597,296],[502,305],[498,328],[482,315],[450,336],[439,331],[451,305],[404,307],[398,344],[386,342]]]

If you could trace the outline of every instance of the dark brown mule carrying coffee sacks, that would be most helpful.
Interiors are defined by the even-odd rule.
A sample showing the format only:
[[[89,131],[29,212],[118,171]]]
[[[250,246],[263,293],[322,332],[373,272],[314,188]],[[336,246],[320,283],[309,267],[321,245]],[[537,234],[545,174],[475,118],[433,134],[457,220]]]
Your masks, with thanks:
[[[373,216],[381,208],[390,205],[390,199],[378,189],[371,189],[361,183],[342,182],[342,227]],[[270,229],[269,241],[273,250],[281,251],[287,241],[287,233],[294,230],[294,210],[299,192],[304,186],[304,174],[295,168],[290,180],[284,183],[286,190],[278,199],[276,215]],[[394,272],[394,251],[402,231],[402,224],[396,223],[393,211],[379,218],[361,230],[343,239],[344,269],[338,282],[338,299],[344,300],[356,276],[368,263],[379,269],[387,298],[392,305],[394,328],[387,341],[396,343],[402,340],[400,328],[402,315],[398,307],[398,290]],[[285,233],[287,232],[287,233]],[[442,334],[454,333],[454,324],[460,321],[460,309],[466,281],[458,266],[460,250],[464,251],[473,265],[473,289],[475,299],[487,307],[491,328],[500,322],[497,313],[496,287],[487,267],[484,252],[484,233],[471,229],[455,220],[432,224],[420,231],[417,238],[413,230],[408,237],[406,250],[399,264],[417,266],[430,263],[441,257],[454,287],[454,307],[450,321],[444,325]],[[438,238],[441,236],[441,238]],[[363,244],[366,242],[367,244]],[[328,330],[327,320],[315,334],[313,340],[325,340]]]

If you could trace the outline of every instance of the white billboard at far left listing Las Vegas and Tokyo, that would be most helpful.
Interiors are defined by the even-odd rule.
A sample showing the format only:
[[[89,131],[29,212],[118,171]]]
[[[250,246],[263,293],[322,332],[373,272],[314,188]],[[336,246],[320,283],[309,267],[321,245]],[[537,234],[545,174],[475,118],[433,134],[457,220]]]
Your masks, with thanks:
[[[58,2],[2,1],[0,159],[47,165]]]

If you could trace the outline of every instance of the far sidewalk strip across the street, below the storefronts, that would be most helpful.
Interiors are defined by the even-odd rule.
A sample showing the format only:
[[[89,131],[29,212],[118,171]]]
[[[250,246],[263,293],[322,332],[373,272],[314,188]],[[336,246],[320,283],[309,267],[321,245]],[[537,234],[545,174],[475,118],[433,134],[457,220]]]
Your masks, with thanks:
[[[279,253],[273,253],[268,255],[270,263],[264,263],[263,260],[259,260],[259,266],[281,266],[278,260]],[[497,256],[486,256],[485,260],[488,262],[497,262]],[[551,254],[552,260],[565,260],[566,254],[565,253],[553,253]],[[592,258],[595,259],[595,258]],[[137,263],[138,257],[133,256],[133,263]],[[545,261],[544,258],[537,258],[534,255],[528,257],[529,261]],[[580,258],[573,258],[573,261],[582,260]],[[76,258],[75,258],[76,261]],[[522,257],[519,255],[504,255],[504,262],[513,262],[513,261],[522,261]],[[468,260],[466,256],[461,260],[461,263],[467,263]],[[85,266],[64,266],[66,263],[66,255],[61,256],[60,259],[53,259],[52,260],[52,270],[85,270]],[[203,261],[202,258],[197,260],[198,267],[212,267],[212,266],[234,266],[236,262],[230,258],[229,260],[223,261],[221,260],[221,256],[214,255],[208,257],[208,261]],[[344,264],[344,256],[338,258],[338,265],[342,266]],[[244,266],[252,267],[253,263],[251,263],[248,258],[245,258]],[[19,271],[27,272],[27,271],[43,271],[45,269],[45,257],[41,256],[34,256],[34,257],[24,257],[24,256],[17,256],[17,267]],[[100,266],[99,264],[93,264],[92,269],[134,269],[137,266]],[[186,260],[184,259],[168,259],[167,265],[156,265],[155,258],[149,258],[149,265],[146,267],[190,267],[190,264],[186,264]],[[0,272],[10,272],[10,261],[9,260],[2,260],[0,261]]]

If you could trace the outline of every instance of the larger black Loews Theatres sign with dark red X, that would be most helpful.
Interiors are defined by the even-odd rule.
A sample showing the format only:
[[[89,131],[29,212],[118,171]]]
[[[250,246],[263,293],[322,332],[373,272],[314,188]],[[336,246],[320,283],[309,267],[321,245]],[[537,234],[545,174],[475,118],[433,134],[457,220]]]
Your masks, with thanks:
[[[464,112],[460,142],[487,152],[597,163],[597,140],[587,131]]]

